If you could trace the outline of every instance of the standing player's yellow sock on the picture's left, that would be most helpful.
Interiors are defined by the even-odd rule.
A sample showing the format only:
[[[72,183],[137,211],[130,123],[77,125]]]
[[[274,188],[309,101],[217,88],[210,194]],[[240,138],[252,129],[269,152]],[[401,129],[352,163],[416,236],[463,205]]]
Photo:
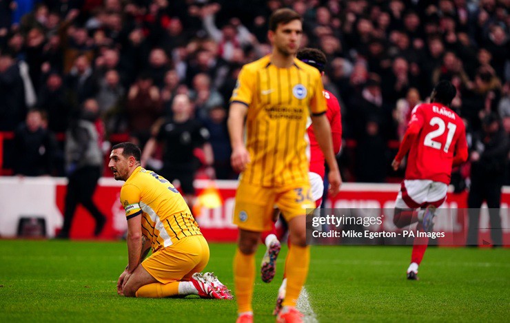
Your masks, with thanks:
[[[238,313],[251,312],[255,282],[255,254],[245,255],[236,249],[234,256],[234,286]]]

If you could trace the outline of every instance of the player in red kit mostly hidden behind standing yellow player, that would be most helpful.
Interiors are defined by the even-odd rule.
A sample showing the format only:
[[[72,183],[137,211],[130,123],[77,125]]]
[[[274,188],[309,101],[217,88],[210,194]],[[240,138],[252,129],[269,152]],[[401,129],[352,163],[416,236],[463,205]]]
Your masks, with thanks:
[[[321,74],[324,74],[327,59],[326,55],[320,50],[315,48],[303,48],[299,50],[297,58],[308,65],[316,67]],[[332,129],[333,149],[335,154],[338,154],[342,144],[342,118],[340,115],[340,104],[338,103],[338,99],[331,92],[324,90],[323,94],[327,104],[327,120],[329,121],[329,125],[331,125]],[[316,207],[319,207],[324,193],[324,176],[326,171],[325,157],[315,138],[311,120],[307,123],[307,141],[309,143],[307,147],[307,157],[309,160],[308,176],[311,188],[310,192],[312,194],[312,200],[315,200],[316,202]],[[278,219],[278,215],[279,210],[275,209],[275,221]],[[267,247],[261,264],[261,276],[264,282],[271,282],[274,278],[276,273],[275,262],[281,249],[280,240],[283,236],[285,236],[285,232],[285,223],[283,223],[283,227],[278,228],[278,230],[276,229],[275,224],[273,224],[271,230],[265,231],[261,235],[262,241]],[[285,287],[286,279],[284,278],[280,290],[278,291],[278,300],[274,315],[278,313],[281,308],[281,301],[285,298]]]

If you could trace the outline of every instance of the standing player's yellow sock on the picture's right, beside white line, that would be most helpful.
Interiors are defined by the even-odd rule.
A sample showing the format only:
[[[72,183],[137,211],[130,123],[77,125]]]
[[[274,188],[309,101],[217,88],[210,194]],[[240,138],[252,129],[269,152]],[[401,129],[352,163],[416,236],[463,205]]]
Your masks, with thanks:
[[[287,275],[287,292],[283,306],[296,306],[301,288],[305,284],[310,262],[310,247],[299,247],[292,244],[285,261]]]

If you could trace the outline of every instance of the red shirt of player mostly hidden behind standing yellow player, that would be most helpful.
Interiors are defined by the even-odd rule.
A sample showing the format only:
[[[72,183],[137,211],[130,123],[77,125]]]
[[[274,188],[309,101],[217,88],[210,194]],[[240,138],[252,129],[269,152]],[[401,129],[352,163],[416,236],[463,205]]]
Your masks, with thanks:
[[[338,99],[329,91],[324,90],[324,98],[326,99],[326,117],[331,125],[332,138],[333,138],[333,150],[335,154],[340,151],[340,145],[342,145],[342,116],[340,115],[340,104]],[[309,156],[310,156],[310,167],[309,171],[319,174],[324,179],[325,174],[325,158],[322,150],[318,145],[317,139],[315,138],[314,129],[310,125],[307,129],[309,139]]]

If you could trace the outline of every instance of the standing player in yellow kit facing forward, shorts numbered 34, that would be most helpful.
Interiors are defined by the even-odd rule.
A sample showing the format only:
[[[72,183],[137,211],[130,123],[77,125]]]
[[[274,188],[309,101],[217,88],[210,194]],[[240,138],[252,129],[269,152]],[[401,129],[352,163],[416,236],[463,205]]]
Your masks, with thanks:
[[[329,166],[331,194],[341,184],[332,135],[325,116],[320,73],[295,58],[302,18],[289,9],[269,18],[272,53],[243,66],[232,94],[228,127],[232,167],[242,171],[236,192],[234,224],[239,229],[234,257],[238,322],[252,322],[255,251],[261,231],[270,229],[274,205],[289,223],[292,248],[285,262],[287,294],[278,322],[300,322],[296,301],[308,273],[305,209],[313,209],[305,153],[307,118]],[[246,118],[246,122],[245,122]],[[243,132],[246,123],[246,142]]]

